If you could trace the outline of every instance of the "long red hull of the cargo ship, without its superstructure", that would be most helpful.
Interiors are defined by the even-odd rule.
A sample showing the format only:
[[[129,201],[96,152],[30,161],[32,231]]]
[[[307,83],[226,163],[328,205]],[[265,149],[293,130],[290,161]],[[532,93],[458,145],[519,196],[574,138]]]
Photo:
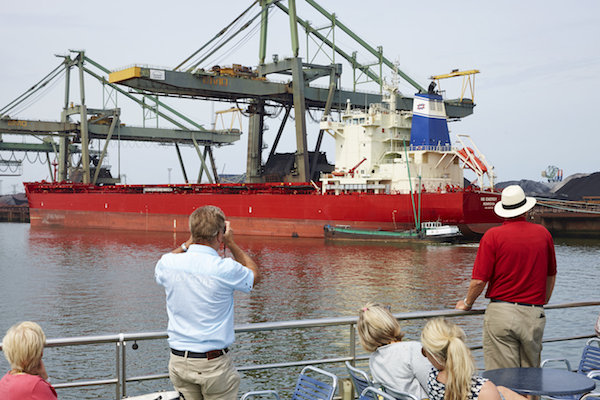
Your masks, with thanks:
[[[480,191],[409,194],[320,194],[306,184],[115,185],[26,183],[32,226],[188,232],[188,216],[220,207],[236,234],[323,237],[323,226],[361,229],[414,227],[421,221],[458,225],[481,235],[501,221],[499,194]],[[417,215],[418,217],[418,215]]]

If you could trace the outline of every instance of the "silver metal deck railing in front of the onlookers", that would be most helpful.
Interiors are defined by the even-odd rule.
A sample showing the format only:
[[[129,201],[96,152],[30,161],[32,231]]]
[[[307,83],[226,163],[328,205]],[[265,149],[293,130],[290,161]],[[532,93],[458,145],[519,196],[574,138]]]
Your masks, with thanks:
[[[545,306],[546,310],[556,310],[564,308],[579,308],[579,307],[590,307],[599,306],[600,299],[595,301],[585,302],[571,302],[561,304],[549,304]],[[399,321],[411,321],[411,320],[426,320],[435,317],[471,317],[479,316],[485,312],[485,309],[473,309],[471,311],[458,311],[458,310],[433,310],[433,311],[420,311],[420,312],[407,312],[407,313],[395,313],[394,316]],[[345,361],[356,362],[359,360],[368,359],[368,355],[361,355],[356,353],[357,348],[357,337],[356,337],[356,325],[358,322],[357,317],[337,317],[337,318],[320,318],[320,319],[306,319],[306,320],[292,320],[292,321],[280,321],[280,322],[262,322],[262,323],[251,323],[237,325],[235,331],[237,334],[241,333],[264,333],[268,331],[280,331],[280,330],[297,330],[297,329],[322,329],[325,327],[343,327],[349,330],[349,342],[348,342],[348,353],[342,357],[328,357],[320,359],[303,359],[296,361],[287,361],[279,363],[268,363],[268,364],[256,364],[256,365],[240,365],[237,366],[238,371],[259,371],[259,370],[273,370],[281,368],[299,367],[314,364],[340,364],[342,365]],[[592,322],[593,324],[593,322]],[[581,332],[578,332],[581,333]],[[592,329],[590,328],[590,334],[577,334],[572,336],[557,337],[557,338],[544,338],[544,343],[553,342],[564,342],[571,340],[581,340],[594,337]],[[87,381],[72,381],[62,383],[52,383],[54,388],[60,390],[68,388],[81,388],[86,386],[100,386],[100,385],[114,385],[115,386],[115,399],[122,399],[127,396],[128,384],[134,382],[144,382],[150,380],[168,379],[169,375],[166,372],[159,372],[156,374],[147,374],[141,376],[128,376],[127,374],[127,344],[133,342],[133,348],[137,348],[137,342],[146,340],[164,340],[167,339],[167,332],[143,332],[143,333],[119,333],[112,335],[102,336],[81,336],[71,338],[55,338],[48,339],[46,347],[71,347],[81,345],[97,345],[97,344],[112,344],[115,346],[115,365],[114,365],[114,376],[108,379],[96,379]],[[470,346],[471,350],[481,350],[481,345]],[[1,344],[0,344],[1,349]],[[60,394],[60,392],[59,392]]]

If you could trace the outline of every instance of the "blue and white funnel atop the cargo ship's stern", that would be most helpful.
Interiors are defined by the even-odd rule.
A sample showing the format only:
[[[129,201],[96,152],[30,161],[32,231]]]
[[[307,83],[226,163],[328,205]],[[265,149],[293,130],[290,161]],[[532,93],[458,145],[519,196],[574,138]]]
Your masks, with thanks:
[[[446,108],[442,96],[417,93],[413,100],[411,146],[450,146]]]

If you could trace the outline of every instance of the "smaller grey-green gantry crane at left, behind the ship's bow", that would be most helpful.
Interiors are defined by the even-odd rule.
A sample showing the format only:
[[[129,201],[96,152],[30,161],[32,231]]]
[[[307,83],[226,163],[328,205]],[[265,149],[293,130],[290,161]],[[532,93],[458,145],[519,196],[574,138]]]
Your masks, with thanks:
[[[212,159],[212,153],[208,154],[206,149],[211,146],[221,146],[234,143],[239,140],[240,129],[205,129],[174,108],[160,101],[155,96],[148,96],[133,91],[130,93],[117,85],[109,83],[103,74],[110,71],[85,55],[83,51],[71,51],[72,54],[58,56],[63,61],[42,80],[33,85],[21,96],[11,103],[0,108],[0,151],[33,152],[46,154],[49,176],[53,181],[81,181],[83,183],[118,183],[120,176],[112,178],[102,173],[103,161],[107,155],[109,142],[118,138],[124,141],[173,143],[177,150],[182,173],[188,182],[187,172],[179,149],[179,144],[193,145],[202,162],[198,181],[202,179],[202,173],[206,172],[208,180],[212,183],[212,176],[217,176],[214,162],[212,171],[206,165],[207,155]],[[73,55],[73,56],[72,56]],[[73,105],[70,98],[71,70],[76,69],[79,75],[80,104]],[[23,103],[35,98],[39,92],[60,76],[65,76],[64,107],[60,122],[24,120],[11,118],[9,113],[18,110]],[[88,75],[103,85],[103,92],[108,92],[108,99],[102,108],[90,108],[86,105],[86,94],[84,86],[84,75]],[[116,93],[119,93],[140,105],[144,112],[152,111],[157,118],[157,126],[132,127],[121,123],[121,109],[116,107]],[[111,100],[114,108],[108,108]],[[79,116],[79,122],[73,121],[72,116]],[[175,128],[166,129],[158,127],[158,117],[169,121]],[[2,140],[1,134],[31,135],[42,137],[41,143],[11,143]],[[54,141],[58,138],[58,143]],[[90,149],[90,141],[99,139],[104,141],[101,151]],[[205,147],[204,153],[200,146]],[[50,154],[55,154],[57,161],[50,162]],[[71,157],[80,154],[80,159],[74,168],[71,165]],[[2,161],[2,160],[0,160]],[[8,165],[12,170],[16,169],[16,160],[4,160],[10,162]],[[4,164],[7,164],[6,162]],[[1,164],[0,164],[1,165]],[[18,167],[20,168],[20,161]],[[55,167],[55,171],[52,168]],[[69,171],[70,170],[70,171]],[[16,175],[16,174],[14,174]]]

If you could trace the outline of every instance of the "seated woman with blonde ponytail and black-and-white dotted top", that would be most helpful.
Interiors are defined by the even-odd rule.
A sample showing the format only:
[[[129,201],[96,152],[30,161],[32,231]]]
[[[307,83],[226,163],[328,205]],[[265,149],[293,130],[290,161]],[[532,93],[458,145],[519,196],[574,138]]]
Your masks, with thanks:
[[[526,400],[475,375],[475,363],[464,340],[463,330],[444,318],[432,319],[423,328],[423,355],[434,367],[427,387],[431,400]]]

